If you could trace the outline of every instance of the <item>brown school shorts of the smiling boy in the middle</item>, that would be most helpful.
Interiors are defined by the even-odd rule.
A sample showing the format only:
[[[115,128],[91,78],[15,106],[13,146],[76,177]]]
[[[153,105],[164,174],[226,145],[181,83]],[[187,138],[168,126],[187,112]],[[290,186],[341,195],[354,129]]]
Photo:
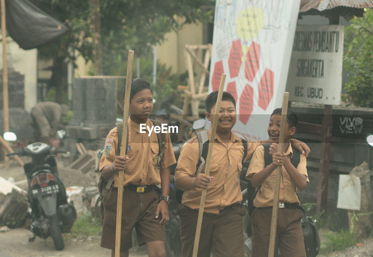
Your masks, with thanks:
[[[179,204],[181,248],[184,257],[192,257],[198,210]],[[198,257],[244,257],[243,218],[246,209],[242,204],[233,204],[219,214],[203,213]]]

